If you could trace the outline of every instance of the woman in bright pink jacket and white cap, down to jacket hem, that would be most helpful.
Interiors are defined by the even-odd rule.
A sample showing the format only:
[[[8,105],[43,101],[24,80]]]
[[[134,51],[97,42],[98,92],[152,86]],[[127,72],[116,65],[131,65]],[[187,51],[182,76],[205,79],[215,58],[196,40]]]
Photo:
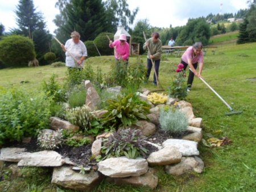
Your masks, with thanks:
[[[115,60],[118,62],[119,60],[126,61],[128,63],[130,56],[130,47],[126,41],[126,35],[121,34],[118,40],[109,41],[109,47],[115,49]]]

